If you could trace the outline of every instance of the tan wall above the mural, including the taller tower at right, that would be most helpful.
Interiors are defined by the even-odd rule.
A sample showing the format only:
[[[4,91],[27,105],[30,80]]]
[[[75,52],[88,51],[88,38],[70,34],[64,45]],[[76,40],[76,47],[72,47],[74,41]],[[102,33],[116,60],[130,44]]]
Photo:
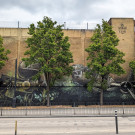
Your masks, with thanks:
[[[134,59],[135,47],[134,47],[134,19],[133,18],[111,18],[110,24],[113,26],[113,30],[116,32],[119,41],[118,48],[126,55],[124,59],[126,63],[123,64],[123,68],[126,70],[126,74],[120,77],[113,76],[118,80],[126,80],[129,74],[129,62]],[[63,30],[65,36],[69,37],[71,43],[71,52],[73,53],[73,64],[86,65],[87,53],[85,48],[90,44],[90,37],[93,35],[92,30]],[[14,75],[14,62],[18,59],[18,63],[24,57],[26,50],[25,40],[29,37],[27,34],[28,29],[22,28],[0,28],[0,35],[4,39],[4,46],[6,49],[11,50],[9,55],[9,61],[6,66],[0,71],[2,74]]]

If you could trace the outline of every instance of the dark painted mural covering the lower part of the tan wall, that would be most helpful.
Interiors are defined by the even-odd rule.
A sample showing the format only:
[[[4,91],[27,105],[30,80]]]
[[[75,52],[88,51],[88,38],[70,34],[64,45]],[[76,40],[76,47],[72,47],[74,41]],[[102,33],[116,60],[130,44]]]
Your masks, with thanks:
[[[100,92],[98,88],[87,90],[88,80],[85,72],[88,70],[83,65],[73,65],[72,76],[57,80],[50,90],[51,105],[97,105],[99,104]],[[46,105],[46,88],[44,77],[33,81],[32,76],[38,71],[38,65],[25,67],[20,63],[18,67],[17,87],[15,90],[14,77],[2,75],[0,79],[0,105],[11,106],[14,93],[16,105]],[[124,88],[124,85],[123,85]],[[104,91],[104,104],[135,104],[134,88],[123,89],[111,87]]]

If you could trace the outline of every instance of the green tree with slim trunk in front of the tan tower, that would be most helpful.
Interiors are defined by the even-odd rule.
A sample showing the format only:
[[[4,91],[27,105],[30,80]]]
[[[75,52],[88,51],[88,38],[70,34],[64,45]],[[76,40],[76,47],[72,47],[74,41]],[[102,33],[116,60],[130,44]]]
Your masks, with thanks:
[[[97,25],[91,38],[91,44],[86,48],[88,53],[87,66],[90,69],[86,73],[86,77],[90,79],[88,90],[92,90],[96,83],[100,88],[100,104],[103,105],[103,91],[107,88],[107,79],[109,74],[121,75],[125,73],[120,64],[123,64],[124,53],[119,51],[119,39],[112,26],[108,22],[102,20],[102,25]]]

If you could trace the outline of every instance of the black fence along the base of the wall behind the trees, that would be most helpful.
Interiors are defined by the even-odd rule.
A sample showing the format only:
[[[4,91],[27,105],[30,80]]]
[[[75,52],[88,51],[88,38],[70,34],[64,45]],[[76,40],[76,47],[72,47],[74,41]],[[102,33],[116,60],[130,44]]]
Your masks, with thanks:
[[[44,87],[0,87],[0,106],[46,106],[47,93]],[[14,96],[15,93],[15,96]],[[134,105],[134,91],[123,92],[119,87],[104,91],[104,105]],[[52,87],[50,105],[99,105],[100,91],[88,91],[86,87]]]

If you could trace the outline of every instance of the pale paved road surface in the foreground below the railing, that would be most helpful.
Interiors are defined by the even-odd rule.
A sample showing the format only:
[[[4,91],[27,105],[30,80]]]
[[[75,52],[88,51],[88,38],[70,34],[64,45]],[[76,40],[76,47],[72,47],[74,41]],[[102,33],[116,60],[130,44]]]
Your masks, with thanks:
[[[114,117],[0,118],[0,135],[115,135]],[[135,135],[135,117],[119,117],[119,134]]]

